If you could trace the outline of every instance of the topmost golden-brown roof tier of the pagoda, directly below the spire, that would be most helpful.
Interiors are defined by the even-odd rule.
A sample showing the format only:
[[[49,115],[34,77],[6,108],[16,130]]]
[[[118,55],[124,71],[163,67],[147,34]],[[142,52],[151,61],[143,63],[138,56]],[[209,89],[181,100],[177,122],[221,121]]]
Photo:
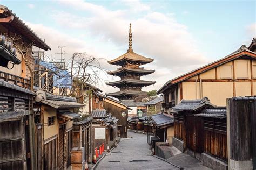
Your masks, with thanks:
[[[128,49],[127,52],[114,60],[108,61],[111,65],[125,65],[125,60],[131,61],[133,63],[140,63],[140,65],[144,65],[146,63],[150,63],[154,61],[154,59],[146,58],[145,56],[134,53],[132,49]]]

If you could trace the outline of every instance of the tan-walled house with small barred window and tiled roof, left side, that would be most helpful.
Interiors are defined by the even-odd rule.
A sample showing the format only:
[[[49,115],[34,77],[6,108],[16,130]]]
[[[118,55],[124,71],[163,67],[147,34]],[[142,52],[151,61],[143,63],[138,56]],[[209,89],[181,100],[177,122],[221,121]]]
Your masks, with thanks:
[[[73,121],[82,107],[74,97],[38,90],[35,97],[37,169],[66,169],[71,166]]]

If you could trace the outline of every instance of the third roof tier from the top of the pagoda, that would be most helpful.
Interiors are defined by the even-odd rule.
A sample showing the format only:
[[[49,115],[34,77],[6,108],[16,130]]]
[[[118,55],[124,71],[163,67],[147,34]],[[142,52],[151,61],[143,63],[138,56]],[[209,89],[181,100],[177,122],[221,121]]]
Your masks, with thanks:
[[[156,83],[156,81],[145,81],[145,80],[137,80],[137,79],[123,79],[123,80],[119,80],[119,81],[114,81],[114,82],[108,82],[106,83],[107,85],[110,86],[118,86],[120,84],[139,84],[141,86],[149,86],[152,85],[154,83]]]

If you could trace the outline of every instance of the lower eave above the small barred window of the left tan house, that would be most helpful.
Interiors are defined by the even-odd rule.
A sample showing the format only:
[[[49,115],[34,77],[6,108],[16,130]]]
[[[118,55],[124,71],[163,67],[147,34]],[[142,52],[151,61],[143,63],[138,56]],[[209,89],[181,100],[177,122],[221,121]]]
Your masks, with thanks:
[[[50,107],[59,109],[59,108],[80,108],[83,107],[83,104],[77,102],[66,102],[66,101],[57,101],[57,100],[45,100],[42,99],[41,103],[49,105]]]

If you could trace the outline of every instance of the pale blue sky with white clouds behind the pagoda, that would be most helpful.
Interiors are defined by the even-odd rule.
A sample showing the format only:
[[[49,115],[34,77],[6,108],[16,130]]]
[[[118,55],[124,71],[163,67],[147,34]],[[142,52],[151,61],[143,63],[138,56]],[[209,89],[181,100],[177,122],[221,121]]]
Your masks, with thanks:
[[[2,1],[60,59],[65,46],[69,61],[75,52],[108,60],[128,49],[129,23],[133,51],[154,59],[144,65],[156,70],[142,80],[157,81],[144,91],[158,90],[176,76],[223,58],[256,37],[256,1]],[[119,67],[119,66],[118,66]],[[119,91],[105,82],[120,78],[102,74],[104,93]]]

